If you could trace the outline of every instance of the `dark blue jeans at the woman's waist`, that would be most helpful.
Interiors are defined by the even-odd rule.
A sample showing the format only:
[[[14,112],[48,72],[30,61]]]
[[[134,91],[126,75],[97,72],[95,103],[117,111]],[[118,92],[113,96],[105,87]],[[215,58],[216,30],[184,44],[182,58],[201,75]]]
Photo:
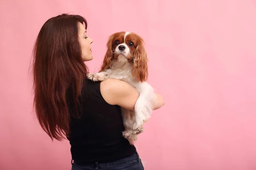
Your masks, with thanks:
[[[123,159],[108,162],[95,162],[94,164],[78,165],[74,161],[72,170],[144,170],[138,153]]]

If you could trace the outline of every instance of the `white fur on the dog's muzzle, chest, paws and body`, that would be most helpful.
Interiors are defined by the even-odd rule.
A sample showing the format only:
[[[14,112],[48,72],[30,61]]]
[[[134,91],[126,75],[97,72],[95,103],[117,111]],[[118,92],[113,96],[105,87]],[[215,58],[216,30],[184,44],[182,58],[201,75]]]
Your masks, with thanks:
[[[127,34],[125,34],[126,36]],[[126,44],[120,44],[126,45]],[[126,45],[127,46],[127,45]],[[130,53],[130,48],[125,48],[125,51],[119,51],[118,46],[115,49],[119,54],[117,59],[113,59],[108,68],[100,73],[88,74],[88,79],[93,81],[103,81],[105,79],[119,79],[130,83],[139,92],[140,96],[135,104],[134,111],[122,108],[122,119],[125,126],[123,136],[128,139],[130,144],[133,144],[137,140],[137,135],[143,132],[143,124],[150,117],[154,110],[154,105],[157,102],[154,89],[147,82],[138,82],[132,76],[133,63],[128,62],[127,56]]]

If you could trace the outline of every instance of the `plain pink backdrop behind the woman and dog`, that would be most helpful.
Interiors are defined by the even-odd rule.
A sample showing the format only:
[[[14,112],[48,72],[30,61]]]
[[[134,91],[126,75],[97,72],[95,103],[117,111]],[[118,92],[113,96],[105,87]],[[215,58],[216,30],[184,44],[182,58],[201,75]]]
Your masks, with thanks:
[[[26,2],[26,3],[25,3]],[[29,62],[44,22],[88,20],[98,71],[110,34],[146,43],[148,82],[166,105],[136,143],[145,170],[256,170],[255,0],[1,0],[0,170],[70,170],[32,113]]]

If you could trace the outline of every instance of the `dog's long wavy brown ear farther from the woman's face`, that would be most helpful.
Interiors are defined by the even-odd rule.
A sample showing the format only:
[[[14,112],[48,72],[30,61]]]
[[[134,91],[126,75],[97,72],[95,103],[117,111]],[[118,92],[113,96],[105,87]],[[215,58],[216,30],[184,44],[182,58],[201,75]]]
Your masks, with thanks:
[[[144,48],[144,41],[138,37],[137,47],[134,51],[134,65],[132,74],[139,82],[147,81],[148,79],[148,58]]]

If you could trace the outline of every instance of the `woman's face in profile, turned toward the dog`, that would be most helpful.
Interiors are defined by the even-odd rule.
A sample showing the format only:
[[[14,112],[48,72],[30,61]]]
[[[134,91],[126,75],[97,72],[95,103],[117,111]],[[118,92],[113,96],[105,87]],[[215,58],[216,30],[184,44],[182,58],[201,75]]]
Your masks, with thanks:
[[[79,23],[79,32],[78,32],[79,42],[81,45],[82,59],[83,61],[90,61],[93,59],[93,54],[90,44],[93,40],[90,37],[87,37],[86,29],[82,23]]]

